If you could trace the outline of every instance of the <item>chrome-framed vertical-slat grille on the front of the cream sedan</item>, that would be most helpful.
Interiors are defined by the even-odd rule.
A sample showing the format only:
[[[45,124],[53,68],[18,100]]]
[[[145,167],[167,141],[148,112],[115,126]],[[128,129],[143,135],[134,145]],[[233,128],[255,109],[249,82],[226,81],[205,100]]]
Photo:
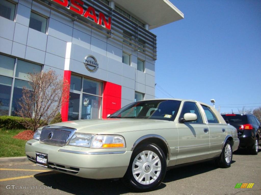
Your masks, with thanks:
[[[72,131],[64,129],[46,128],[42,129],[40,135],[40,142],[56,146],[63,146],[68,140]],[[52,136],[50,136],[52,134]]]

